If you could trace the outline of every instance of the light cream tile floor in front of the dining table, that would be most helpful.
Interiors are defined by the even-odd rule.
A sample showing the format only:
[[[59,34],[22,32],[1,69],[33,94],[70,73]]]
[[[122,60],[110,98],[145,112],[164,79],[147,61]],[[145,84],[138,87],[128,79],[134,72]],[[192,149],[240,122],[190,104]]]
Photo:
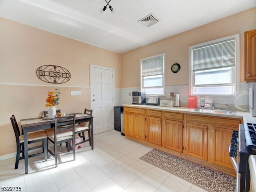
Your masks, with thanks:
[[[94,150],[86,143],[76,151],[58,146],[58,168],[52,156],[29,158],[14,170],[15,158],[0,161],[0,188],[18,186],[22,192],[206,192],[139,158],[152,150],[116,130],[94,135]]]

